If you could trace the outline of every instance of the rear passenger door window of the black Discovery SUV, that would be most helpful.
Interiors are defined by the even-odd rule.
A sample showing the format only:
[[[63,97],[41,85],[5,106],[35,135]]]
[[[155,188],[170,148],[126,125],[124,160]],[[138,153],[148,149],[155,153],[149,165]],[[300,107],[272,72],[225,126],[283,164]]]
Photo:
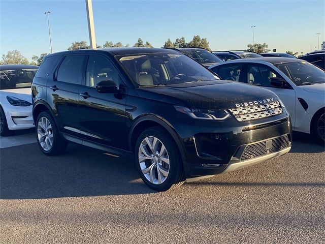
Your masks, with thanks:
[[[58,81],[81,85],[84,60],[85,55],[67,55],[64,57],[57,71],[56,79]]]

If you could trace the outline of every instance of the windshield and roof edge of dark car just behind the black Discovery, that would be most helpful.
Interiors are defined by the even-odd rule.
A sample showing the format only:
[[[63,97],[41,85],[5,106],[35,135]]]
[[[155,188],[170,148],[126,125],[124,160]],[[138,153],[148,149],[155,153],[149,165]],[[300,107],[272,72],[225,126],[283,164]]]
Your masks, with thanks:
[[[213,53],[211,53],[210,51],[204,48],[187,47],[187,48],[170,48],[170,49],[180,51],[181,53],[196,60],[196,62],[204,65],[205,67],[210,67],[212,65],[223,62],[223,60],[221,60],[219,57],[213,55]]]

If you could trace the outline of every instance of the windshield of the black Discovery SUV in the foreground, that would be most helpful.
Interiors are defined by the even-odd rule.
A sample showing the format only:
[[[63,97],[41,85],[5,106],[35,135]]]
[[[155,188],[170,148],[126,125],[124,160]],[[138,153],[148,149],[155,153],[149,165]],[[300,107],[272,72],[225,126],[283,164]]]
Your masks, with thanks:
[[[211,71],[182,54],[148,53],[117,56],[117,59],[133,81],[140,86],[219,79]]]

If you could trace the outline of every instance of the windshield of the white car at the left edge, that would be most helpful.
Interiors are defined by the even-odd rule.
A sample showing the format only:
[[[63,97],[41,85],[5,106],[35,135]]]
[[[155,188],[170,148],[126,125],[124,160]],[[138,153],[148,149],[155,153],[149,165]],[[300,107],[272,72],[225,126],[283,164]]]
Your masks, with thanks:
[[[29,88],[37,69],[0,70],[0,89]]]

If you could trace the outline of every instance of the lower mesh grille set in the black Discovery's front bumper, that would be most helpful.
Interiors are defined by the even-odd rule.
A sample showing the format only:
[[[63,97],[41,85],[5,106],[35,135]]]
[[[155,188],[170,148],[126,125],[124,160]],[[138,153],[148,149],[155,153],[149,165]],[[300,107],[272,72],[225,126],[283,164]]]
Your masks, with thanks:
[[[276,153],[277,151],[280,151],[288,146],[289,139],[287,135],[249,144],[245,147],[240,160],[244,161]]]

